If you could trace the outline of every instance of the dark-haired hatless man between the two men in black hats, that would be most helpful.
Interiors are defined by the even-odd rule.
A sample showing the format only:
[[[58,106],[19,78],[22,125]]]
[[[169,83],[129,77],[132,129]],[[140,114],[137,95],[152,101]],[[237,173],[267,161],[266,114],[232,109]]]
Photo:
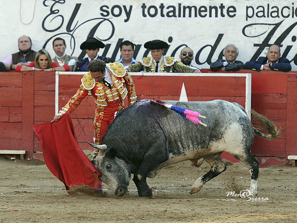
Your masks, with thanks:
[[[117,62],[122,63],[124,66],[128,66],[130,64],[135,64],[137,61],[133,58],[135,45],[126,40],[121,43],[121,58],[117,60]]]

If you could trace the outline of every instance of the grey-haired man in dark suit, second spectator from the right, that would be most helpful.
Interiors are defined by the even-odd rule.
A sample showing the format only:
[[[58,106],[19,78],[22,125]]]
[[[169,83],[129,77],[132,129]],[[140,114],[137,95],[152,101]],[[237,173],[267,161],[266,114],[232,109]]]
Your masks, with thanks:
[[[217,61],[210,64],[210,69],[212,71],[217,71],[219,69],[226,71],[237,71],[243,69],[244,63],[242,61],[236,60],[238,53],[238,48],[234,44],[228,44],[223,50],[226,60],[218,59]]]

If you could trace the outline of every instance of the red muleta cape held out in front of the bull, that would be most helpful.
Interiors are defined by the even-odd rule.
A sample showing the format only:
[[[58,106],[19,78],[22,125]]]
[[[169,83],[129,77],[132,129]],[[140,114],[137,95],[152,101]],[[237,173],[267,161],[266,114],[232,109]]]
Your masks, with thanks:
[[[41,143],[46,165],[64,183],[66,190],[77,185],[96,188],[101,173],[79,147],[69,114],[62,115],[57,122],[34,125],[33,129]]]

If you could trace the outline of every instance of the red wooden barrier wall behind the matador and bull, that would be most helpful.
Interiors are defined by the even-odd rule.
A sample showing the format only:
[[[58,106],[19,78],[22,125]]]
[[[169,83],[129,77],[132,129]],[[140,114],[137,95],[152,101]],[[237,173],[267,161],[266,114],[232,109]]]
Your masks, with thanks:
[[[202,72],[210,70],[203,69]],[[268,116],[282,129],[281,137],[275,140],[256,137],[252,154],[262,167],[285,164],[288,155],[297,154],[297,72],[239,72],[252,73],[251,108]],[[184,83],[189,101],[223,99],[245,106],[243,77],[194,78],[168,75],[132,76],[138,99],[179,100]],[[54,115],[54,72],[8,72],[0,73],[0,78],[0,149],[26,150],[27,158],[43,159],[32,125],[49,121]],[[76,92],[80,79],[81,75],[59,76],[59,109]],[[93,138],[94,110],[93,98],[87,97],[71,114],[83,149],[91,149],[85,142]],[[236,161],[228,154],[224,158]]]

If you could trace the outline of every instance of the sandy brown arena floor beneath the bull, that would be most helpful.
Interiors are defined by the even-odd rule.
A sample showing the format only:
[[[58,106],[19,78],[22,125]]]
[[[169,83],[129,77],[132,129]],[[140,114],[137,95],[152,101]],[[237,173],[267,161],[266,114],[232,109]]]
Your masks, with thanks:
[[[103,184],[105,197],[70,196],[63,183],[37,160],[0,157],[1,223],[296,223],[297,167],[260,168],[258,197],[266,202],[228,196],[247,189],[249,171],[233,164],[191,195],[194,179],[208,171],[184,162],[166,167],[148,185],[157,198],[138,197],[131,181],[130,195],[116,197]]]

